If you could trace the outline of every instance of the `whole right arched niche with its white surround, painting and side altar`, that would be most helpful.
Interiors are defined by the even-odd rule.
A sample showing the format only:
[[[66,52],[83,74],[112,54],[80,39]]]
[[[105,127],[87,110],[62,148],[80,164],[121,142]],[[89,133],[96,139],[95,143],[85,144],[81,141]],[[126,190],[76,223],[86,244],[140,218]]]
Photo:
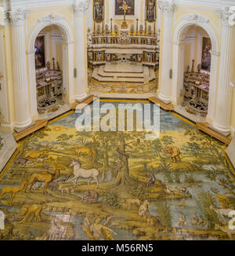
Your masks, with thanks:
[[[184,16],[175,29],[173,48],[172,101],[186,103],[192,113],[212,122],[219,43],[209,20],[203,16]],[[193,108],[194,107],[194,108]]]

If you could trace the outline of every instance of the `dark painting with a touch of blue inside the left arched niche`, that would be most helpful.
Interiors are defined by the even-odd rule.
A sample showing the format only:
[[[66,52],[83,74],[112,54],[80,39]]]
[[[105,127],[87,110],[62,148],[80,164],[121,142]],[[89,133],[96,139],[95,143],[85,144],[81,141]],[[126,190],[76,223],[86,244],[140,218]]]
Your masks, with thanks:
[[[38,36],[34,45],[35,49],[35,67],[45,68],[45,36]]]

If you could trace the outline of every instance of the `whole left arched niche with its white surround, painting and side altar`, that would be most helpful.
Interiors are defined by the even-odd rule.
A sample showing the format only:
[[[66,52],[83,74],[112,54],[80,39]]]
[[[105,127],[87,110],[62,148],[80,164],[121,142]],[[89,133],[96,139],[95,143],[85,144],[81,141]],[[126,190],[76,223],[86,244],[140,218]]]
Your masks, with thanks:
[[[62,17],[49,15],[38,22],[27,53],[31,116],[36,119],[39,114],[44,119],[47,112],[60,113],[61,106],[63,110],[74,102],[74,41],[71,27]]]

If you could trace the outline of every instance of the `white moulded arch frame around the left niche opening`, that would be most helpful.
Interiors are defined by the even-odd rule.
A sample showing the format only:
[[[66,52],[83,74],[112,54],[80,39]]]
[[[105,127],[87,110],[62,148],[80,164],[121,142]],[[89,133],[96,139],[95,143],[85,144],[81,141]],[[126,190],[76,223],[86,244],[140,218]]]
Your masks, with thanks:
[[[64,47],[63,47],[63,56],[67,68],[63,68],[63,76],[67,79],[67,101],[69,103],[73,102],[74,99],[74,76],[73,68],[74,67],[74,35],[71,31],[71,27],[67,22],[64,21],[63,16],[56,14],[50,14],[43,16],[38,19],[38,25],[31,32],[31,35],[28,39],[28,75],[29,75],[29,84],[30,84],[30,99],[31,99],[31,117],[38,117],[38,105],[37,105],[37,90],[36,90],[36,76],[35,76],[35,62],[34,62],[34,43],[40,31],[43,28],[56,25],[60,28],[61,34],[64,36]],[[64,64],[63,64],[64,67]],[[70,67],[70,68],[69,68]]]

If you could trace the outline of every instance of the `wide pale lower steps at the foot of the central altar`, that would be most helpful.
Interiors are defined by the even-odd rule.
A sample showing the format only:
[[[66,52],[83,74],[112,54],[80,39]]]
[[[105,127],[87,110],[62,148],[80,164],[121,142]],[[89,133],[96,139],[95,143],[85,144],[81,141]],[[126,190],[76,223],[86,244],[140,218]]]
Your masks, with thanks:
[[[92,78],[99,82],[138,82],[146,83],[156,79],[156,75],[153,69],[143,67],[143,72],[131,73],[131,72],[110,72],[105,71],[104,66],[95,68],[92,74]]]

